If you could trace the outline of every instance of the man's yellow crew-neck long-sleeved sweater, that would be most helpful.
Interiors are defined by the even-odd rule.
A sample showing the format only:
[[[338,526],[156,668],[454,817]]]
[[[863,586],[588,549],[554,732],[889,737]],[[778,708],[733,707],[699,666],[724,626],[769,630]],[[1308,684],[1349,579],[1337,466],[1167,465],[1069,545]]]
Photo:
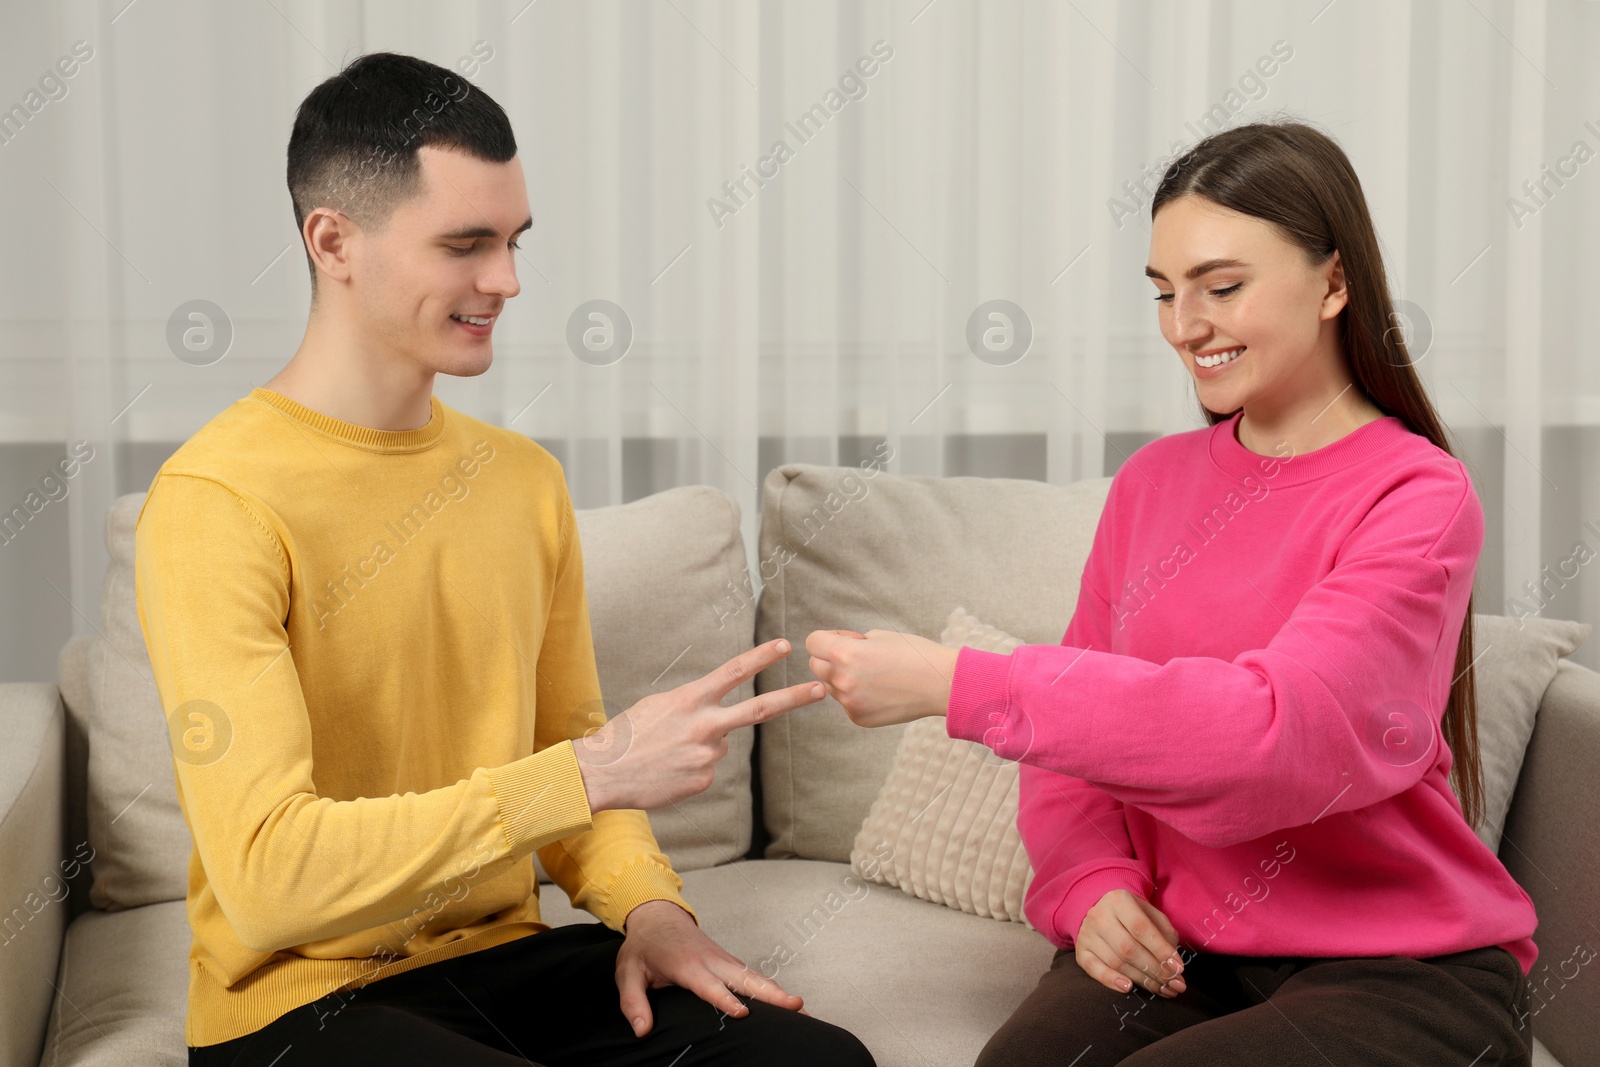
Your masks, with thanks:
[[[254,389],[155,475],[136,600],[194,837],[189,1045],[549,929],[534,851],[613,929],[694,915],[645,813],[589,809],[582,553],[526,437]]]

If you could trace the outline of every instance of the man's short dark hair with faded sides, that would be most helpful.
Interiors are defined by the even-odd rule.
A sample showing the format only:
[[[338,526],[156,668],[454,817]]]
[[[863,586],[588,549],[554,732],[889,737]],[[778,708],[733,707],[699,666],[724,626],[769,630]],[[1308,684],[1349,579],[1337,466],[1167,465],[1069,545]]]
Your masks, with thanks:
[[[488,93],[437,64],[374,51],[314,88],[294,114],[288,182],[294,224],[334,208],[363,229],[382,229],[419,192],[424,144],[490,163],[517,155],[510,120]],[[306,250],[312,291],[317,267]]]

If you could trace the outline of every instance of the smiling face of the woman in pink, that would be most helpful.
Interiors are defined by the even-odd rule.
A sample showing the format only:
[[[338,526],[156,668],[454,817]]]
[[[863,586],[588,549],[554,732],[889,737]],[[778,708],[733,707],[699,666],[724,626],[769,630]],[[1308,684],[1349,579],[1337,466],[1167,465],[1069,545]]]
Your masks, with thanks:
[[[1270,222],[1186,195],[1157,211],[1144,272],[1158,290],[1162,336],[1210,411],[1293,408],[1341,365],[1338,253],[1312,266]]]

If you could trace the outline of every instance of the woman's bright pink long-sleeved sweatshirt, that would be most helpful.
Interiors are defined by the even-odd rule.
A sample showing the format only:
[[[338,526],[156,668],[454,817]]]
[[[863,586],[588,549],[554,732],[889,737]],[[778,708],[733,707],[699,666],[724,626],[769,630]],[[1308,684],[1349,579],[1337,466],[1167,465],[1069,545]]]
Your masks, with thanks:
[[[949,734],[1021,761],[1029,921],[1070,947],[1130,889],[1200,952],[1501,945],[1528,973],[1533,901],[1440,729],[1483,547],[1466,469],[1395,416],[1299,456],[1238,419],[1122,466],[1061,645],[957,657]]]

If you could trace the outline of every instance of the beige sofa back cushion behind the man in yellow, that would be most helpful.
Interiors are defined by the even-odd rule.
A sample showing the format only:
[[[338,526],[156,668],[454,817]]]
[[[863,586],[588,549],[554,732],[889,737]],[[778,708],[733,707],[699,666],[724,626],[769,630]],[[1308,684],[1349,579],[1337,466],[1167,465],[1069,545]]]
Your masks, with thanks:
[[[99,633],[86,649],[80,643],[59,659],[72,673],[61,678],[61,691],[88,734],[90,901],[109,910],[184,899],[190,849],[166,721],[134,611],[133,528],[142,504],[144,493],[112,504]],[[750,648],[754,608],[717,609],[730,584],[749,582],[739,509],[725,493],[685,486],[578,510],[578,536],[608,713]],[[752,694],[747,681],[728,702]],[[749,849],[752,745],[754,728],[734,731],[709,790],[651,813],[656,838],[678,870],[730,862]]]

